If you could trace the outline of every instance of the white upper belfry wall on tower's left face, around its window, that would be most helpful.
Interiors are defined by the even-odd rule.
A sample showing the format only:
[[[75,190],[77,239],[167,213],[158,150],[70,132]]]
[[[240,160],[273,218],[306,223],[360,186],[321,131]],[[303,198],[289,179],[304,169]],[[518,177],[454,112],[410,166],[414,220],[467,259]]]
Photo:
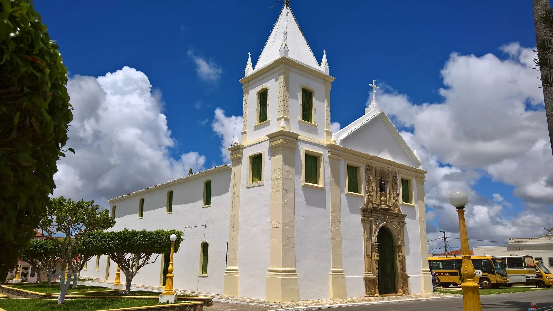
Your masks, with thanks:
[[[257,124],[258,118],[257,92],[265,86],[269,87],[267,118],[270,122],[254,127]],[[269,133],[276,132],[278,130],[276,117],[278,117],[278,71],[273,69],[250,82],[248,86],[248,141],[253,141]],[[237,135],[239,136],[239,133]]]

